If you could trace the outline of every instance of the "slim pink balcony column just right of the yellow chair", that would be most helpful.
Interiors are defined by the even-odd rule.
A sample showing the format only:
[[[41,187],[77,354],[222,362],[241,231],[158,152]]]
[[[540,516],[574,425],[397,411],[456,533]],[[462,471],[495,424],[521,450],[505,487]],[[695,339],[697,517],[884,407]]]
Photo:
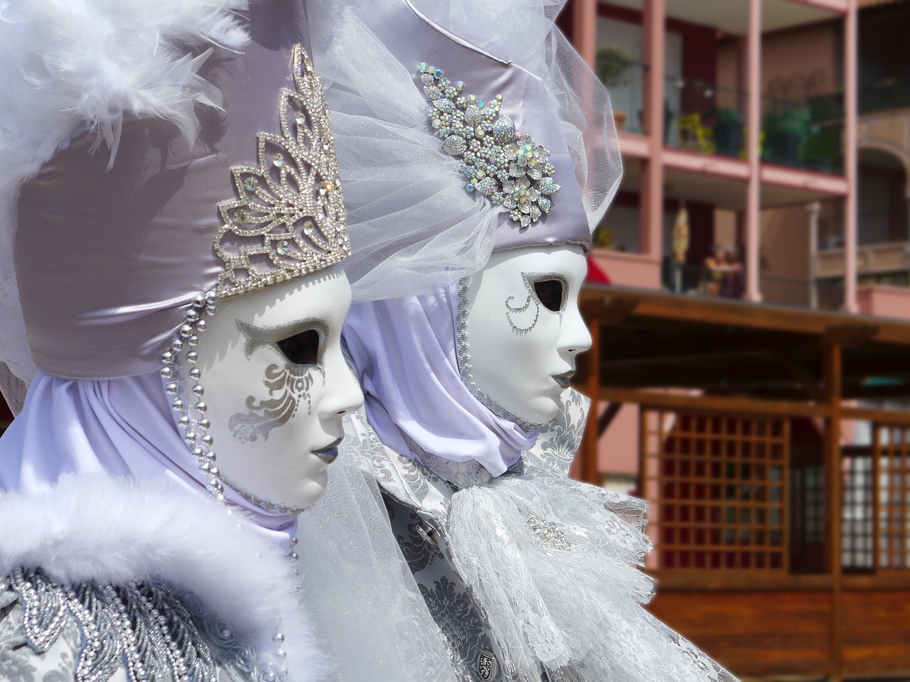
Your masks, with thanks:
[[[762,181],[759,166],[759,135],[762,128],[762,0],[749,0],[749,34],[746,55],[746,90],[748,110],[746,140],[749,162],[749,184],[745,197],[745,298],[760,302],[759,262],[761,253],[760,227],[762,224]]]

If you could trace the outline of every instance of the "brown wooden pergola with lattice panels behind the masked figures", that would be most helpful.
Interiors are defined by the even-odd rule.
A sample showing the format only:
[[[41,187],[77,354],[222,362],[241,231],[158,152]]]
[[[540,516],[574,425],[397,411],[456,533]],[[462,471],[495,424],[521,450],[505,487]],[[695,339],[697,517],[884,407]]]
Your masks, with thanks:
[[[599,436],[640,406],[639,489],[663,562],[648,569],[655,614],[741,676],[910,673],[910,413],[860,406],[910,398],[910,324],[619,286],[586,286],[581,310],[593,344],[576,386],[607,403],[586,426],[582,477],[601,483]],[[821,432],[816,567],[796,559],[811,544],[793,530],[811,526],[794,517],[808,471],[790,452],[800,420]],[[875,446],[847,452],[845,420],[871,423]],[[864,456],[856,499],[875,536],[861,569],[844,558],[844,486],[861,478],[848,456]]]

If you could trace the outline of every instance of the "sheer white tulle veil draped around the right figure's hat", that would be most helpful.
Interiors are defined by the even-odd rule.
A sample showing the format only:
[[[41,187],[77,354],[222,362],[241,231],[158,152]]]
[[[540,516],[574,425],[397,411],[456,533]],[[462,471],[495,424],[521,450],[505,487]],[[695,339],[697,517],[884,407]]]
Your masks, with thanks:
[[[453,40],[519,65],[545,83],[589,230],[597,226],[619,186],[622,162],[609,95],[553,23],[562,4],[308,1],[313,61],[332,110],[353,227],[353,255],[345,269],[355,301],[429,294],[479,271],[505,222],[501,206],[465,191],[460,162],[442,151],[428,125],[416,64],[402,63],[374,30],[381,23],[377,15],[394,15],[402,5]],[[482,92],[487,85],[470,86]]]

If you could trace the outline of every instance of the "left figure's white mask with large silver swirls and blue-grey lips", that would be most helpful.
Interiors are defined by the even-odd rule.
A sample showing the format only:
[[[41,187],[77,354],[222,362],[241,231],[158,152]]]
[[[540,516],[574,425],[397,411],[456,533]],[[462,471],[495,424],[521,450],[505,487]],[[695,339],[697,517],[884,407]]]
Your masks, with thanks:
[[[197,346],[208,434],[220,476],[248,499],[299,510],[322,496],[341,418],[363,401],[340,346],[349,306],[332,266],[227,298],[210,318]]]

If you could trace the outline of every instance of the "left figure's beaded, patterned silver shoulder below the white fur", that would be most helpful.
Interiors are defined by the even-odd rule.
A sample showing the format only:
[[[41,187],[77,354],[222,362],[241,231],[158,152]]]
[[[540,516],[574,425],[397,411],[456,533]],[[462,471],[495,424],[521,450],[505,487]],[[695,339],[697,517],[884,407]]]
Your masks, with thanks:
[[[65,586],[40,569],[0,581],[0,678],[242,682],[251,649],[201,603],[152,581]]]

